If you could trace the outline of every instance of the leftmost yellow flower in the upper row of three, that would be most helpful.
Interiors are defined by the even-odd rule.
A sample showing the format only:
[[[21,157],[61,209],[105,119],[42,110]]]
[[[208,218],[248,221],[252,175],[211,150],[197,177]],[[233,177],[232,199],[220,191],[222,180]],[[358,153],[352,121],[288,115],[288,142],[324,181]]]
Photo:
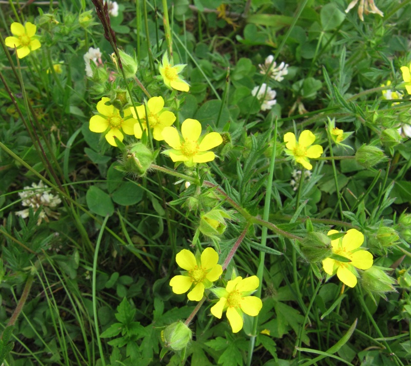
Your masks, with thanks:
[[[103,97],[97,103],[97,111],[99,114],[90,118],[90,131],[105,132],[107,142],[112,146],[117,146],[114,136],[120,141],[123,141],[123,133],[134,135],[134,124],[138,123],[132,118],[131,108],[124,109],[124,117],[120,115],[120,111],[113,105],[106,105],[110,99]]]

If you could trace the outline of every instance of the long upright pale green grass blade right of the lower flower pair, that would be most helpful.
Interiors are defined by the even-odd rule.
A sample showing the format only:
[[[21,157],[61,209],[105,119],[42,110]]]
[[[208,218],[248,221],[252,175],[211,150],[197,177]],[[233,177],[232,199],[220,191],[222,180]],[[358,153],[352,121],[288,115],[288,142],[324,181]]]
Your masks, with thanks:
[[[272,121],[271,121],[272,125]],[[274,144],[273,144],[273,150],[271,152],[271,161],[270,161],[270,169],[268,173],[268,178],[267,178],[267,192],[265,196],[265,201],[264,201],[264,212],[263,212],[263,219],[264,221],[268,221],[269,216],[270,216],[270,204],[271,204],[271,191],[272,191],[272,186],[273,186],[273,177],[274,177],[274,165],[275,165],[275,153],[277,149],[277,119],[275,119],[274,122]],[[263,227],[261,229],[261,245],[266,246],[267,245],[267,227]],[[264,273],[264,261],[266,253],[263,251],[260,251],[259,254],[259,264],[258,264],[258,269],[257,269],[257,277],[258,277],[258,288],[257,291],[255,292],[255,296],[258,298],[261,298],[261,289],[263,288],[263,273]],[[254,353],[254,345],[255,345],[255,338],[257,334],[257,326],[258,326],[258,315],[254,317],[253,319],[253,330],[251,333],[251,338],[249,342],[249,347],[248,347],[248,354],[247,354],[247,365],[251,365],[251,361],[253,359],[253,353]]]

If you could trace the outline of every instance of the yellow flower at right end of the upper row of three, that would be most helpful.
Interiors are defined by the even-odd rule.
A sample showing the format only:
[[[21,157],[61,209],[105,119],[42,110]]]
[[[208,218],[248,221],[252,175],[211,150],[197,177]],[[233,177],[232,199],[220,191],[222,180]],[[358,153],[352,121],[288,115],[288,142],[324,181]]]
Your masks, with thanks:
[[[188,118],[181,124],[181,134],[182,137],[174,127],[164,127],[163,139],[173,148],[164,151],[165,155],[169,155],[173,161],[184,161],[188,167],[192,167],[197,162],[214,160],[214,153],[207,150],[222,143],[218,132],[211,132],[200,137],[200,122]]]

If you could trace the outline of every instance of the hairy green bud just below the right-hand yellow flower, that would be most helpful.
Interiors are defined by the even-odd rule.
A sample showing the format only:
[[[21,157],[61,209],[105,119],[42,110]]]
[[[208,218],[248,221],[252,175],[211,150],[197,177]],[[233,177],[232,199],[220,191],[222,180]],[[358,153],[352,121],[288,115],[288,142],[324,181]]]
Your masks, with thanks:
[[[386,299],[387,292],[396,291],[394,284],[395,279],[388,276],[383,267],[372,266],[362,272],[361,285],[372,298],[378,295]]]

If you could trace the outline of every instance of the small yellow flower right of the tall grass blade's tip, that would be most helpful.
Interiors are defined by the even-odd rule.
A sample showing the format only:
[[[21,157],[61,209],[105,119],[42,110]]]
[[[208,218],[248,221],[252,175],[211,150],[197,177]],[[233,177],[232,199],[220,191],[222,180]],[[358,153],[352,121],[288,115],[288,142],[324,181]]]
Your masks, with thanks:
[[[314,134],[309,130],[304,130],[298,142],[292,132],[287,132],[284,136],[286,142],[286,154],[293,157],[293,160],[299,162],[305,169],[311,170],[312,165],[308,158],[320,157],[323,153],[321,145],[310,146],[315,141]]]

